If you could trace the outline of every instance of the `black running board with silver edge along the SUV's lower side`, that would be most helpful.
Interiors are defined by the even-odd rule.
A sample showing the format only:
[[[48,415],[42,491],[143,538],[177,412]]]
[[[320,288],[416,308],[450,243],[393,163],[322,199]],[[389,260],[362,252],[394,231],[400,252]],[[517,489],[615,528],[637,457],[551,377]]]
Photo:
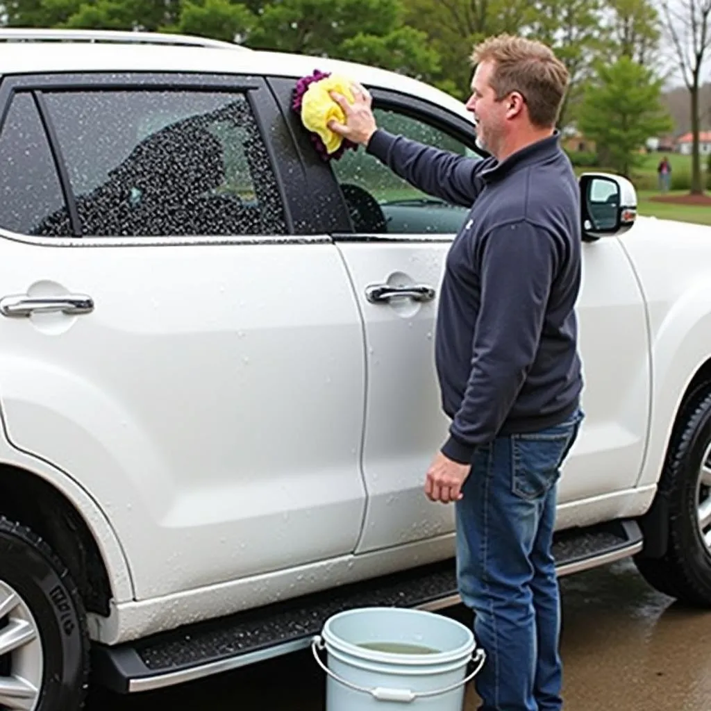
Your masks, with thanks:
[[[629,557],[642,549],[632,520],[556,535],[560,576]],[[118,693],[149,691],[201,679],[304,649],[326,620],[365,606],[438,610],[460,602],[454,560],[200,622],[116,647],[92,650],[95,681]]]

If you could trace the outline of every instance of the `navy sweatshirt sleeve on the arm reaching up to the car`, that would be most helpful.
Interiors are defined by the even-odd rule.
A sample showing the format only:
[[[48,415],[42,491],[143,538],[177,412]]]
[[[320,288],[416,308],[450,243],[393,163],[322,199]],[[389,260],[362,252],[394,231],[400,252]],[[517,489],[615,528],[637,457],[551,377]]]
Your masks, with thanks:
[[[467,208],[481,192],[476,174],[491,167],[488,160],[442,151],[383,129],[373,134],[366,151],[423,193]]]

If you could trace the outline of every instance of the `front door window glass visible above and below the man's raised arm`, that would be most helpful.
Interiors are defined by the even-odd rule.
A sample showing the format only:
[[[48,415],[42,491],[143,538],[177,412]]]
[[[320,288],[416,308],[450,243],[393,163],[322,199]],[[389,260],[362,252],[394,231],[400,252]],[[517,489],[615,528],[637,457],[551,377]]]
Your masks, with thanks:
[[[421,119],[375,108],[378,127],[461,156],[481,156],[463,142]],[[346,151],[332,161],[355,232],[454,234],[469,208],[445,203],[417,190],[365,151]]]

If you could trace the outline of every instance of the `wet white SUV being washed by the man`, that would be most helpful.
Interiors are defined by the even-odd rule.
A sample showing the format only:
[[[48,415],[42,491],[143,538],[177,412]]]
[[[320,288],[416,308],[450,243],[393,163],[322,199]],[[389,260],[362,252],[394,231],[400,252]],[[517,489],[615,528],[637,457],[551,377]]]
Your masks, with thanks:
[[[466,210],[362,149],[324,161],[292,101],[338,71],[385,129],[476,160],[464,106],[196,38],[0,40],[0,708],[79,707],[90,650],[134,692],[301,648],[348,607],[456,602],[453,509],[423,483]],[[635,555],[708,604],[711,230],[580,184],[559,571]]]

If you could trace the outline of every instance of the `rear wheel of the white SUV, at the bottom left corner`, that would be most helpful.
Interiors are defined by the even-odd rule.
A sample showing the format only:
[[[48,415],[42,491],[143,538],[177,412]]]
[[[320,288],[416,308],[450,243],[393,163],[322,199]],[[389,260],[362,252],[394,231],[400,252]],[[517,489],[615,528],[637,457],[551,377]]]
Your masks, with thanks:
[[[0,517],[0,689],[10,682],[29,695],[31,711],[75,711],[88,673],[86,614],[69,571],[38,535]],[[35,691],[20,692],[27,683]]]

